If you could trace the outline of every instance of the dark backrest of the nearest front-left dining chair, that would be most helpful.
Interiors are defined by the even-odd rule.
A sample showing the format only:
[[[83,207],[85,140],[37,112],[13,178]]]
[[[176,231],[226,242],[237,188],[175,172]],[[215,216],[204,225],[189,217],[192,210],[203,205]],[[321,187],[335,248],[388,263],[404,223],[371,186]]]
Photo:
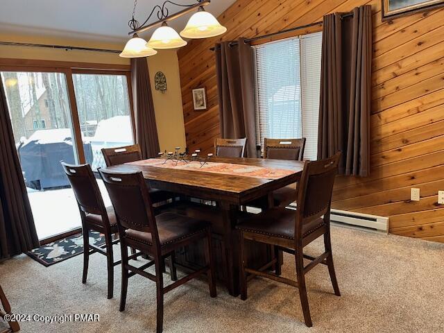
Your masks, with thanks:
[[[119,232],[128,228],[151,232],[153,245],[159,244],[153,206],[142,172],[113,173],[99,169],[99,173],[110,195]]]

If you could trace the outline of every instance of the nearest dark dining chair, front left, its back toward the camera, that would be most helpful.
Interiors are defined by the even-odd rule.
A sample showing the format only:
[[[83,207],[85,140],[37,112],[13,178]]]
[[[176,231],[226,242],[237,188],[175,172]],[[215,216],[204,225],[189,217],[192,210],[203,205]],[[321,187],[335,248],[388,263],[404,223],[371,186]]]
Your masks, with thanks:
[[[155,215],[142,172],[111,173],[99,169],[99,173],[105,182],[108,194],[110,194],[121,239],[122,279],[119,310],[125,309],[128,278],[138,274],[154,281],[157,289],[156,330],[157,333],[162,332],[164,294],[168,291],[205,274],[210,287],[210,296],[216,297],[211,251],[211,225],[207,221],[171,212]],[[164,258],[178,248],[197,241],[204,242],[206,266],[164,287],[162,275]],[[154,259],[139,267],[132,266],[128,263],[128,246],[147,253]],[[153,265],[155,266],[155,274],[145,271],[146,268]]]

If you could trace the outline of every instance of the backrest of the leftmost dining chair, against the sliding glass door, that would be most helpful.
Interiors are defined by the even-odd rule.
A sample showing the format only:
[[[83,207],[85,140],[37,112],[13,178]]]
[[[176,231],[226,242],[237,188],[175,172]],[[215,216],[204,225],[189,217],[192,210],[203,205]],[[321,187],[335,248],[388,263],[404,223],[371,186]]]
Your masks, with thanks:
[[[90,214],[106,215],[103,198],[91,166],[89,164],[67,164],[63,161],[60,164],[67,174],[80,210]]]

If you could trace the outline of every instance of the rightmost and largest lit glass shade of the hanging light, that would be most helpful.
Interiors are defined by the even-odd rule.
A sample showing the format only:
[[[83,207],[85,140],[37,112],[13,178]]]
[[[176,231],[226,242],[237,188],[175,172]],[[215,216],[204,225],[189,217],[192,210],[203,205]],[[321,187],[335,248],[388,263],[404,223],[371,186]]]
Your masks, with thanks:
[[[199,10],[188,20],[180,35],[185,38],[207,38],[222,35],[227,31],[210,12]]]

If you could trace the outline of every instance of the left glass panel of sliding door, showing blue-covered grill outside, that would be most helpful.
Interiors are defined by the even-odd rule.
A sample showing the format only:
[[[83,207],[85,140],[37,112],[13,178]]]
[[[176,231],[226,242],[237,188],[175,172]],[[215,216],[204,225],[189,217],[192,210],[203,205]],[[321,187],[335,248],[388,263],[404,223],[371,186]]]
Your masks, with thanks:
[[[2,71],[1,80],[39,239],[79,228],[74,192],[60,167],[61,160],[78,162],[65,74]]]

